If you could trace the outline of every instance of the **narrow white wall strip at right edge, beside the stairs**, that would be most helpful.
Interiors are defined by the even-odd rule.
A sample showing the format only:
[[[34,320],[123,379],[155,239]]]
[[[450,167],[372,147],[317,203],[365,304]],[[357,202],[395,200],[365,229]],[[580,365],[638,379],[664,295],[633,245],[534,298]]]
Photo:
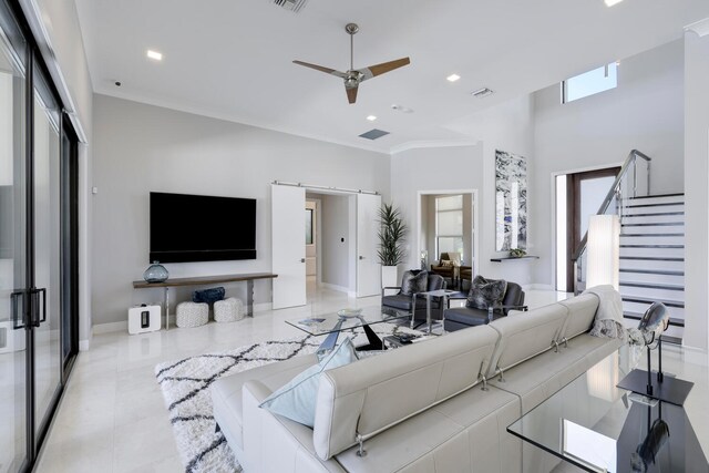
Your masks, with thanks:
[[[685,333],[709,347],[709,35],[685,37]]]

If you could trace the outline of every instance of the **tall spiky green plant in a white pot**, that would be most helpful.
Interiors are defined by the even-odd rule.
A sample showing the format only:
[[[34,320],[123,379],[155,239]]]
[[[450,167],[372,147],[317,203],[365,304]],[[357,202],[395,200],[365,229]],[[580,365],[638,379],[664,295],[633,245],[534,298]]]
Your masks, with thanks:
[[[407,225],[401,213],[393,204],[383,204],[379,209],[379,261],[381,263],[382,287],[397,286],[397,266],[403,263],[405,256],[403,241]]]

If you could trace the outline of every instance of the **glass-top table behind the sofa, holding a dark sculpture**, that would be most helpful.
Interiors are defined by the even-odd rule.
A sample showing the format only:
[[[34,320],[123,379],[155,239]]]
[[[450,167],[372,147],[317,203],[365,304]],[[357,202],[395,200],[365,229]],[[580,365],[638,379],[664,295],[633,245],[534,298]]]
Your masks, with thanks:
[[[630,358],[620,348],[507,431],[583,471],[709,472],[681,407],[616,388]]]

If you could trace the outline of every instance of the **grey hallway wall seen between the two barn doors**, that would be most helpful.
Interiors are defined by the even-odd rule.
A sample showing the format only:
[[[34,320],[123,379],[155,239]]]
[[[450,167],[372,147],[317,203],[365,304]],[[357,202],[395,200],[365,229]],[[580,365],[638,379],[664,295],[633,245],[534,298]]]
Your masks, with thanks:
[[[354,290],[350,280],[350,215],[347,195],[322,195],[322,284],[337,289]],[[342,239],[345,239],[342,241]]]

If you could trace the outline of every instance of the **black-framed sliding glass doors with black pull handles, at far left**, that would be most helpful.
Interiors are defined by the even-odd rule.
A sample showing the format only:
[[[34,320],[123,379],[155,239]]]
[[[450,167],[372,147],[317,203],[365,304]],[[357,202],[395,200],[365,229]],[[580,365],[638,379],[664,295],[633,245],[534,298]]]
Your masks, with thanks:
[[[0,0],[0,473],[32,469],[78,351],[76,143]]]

